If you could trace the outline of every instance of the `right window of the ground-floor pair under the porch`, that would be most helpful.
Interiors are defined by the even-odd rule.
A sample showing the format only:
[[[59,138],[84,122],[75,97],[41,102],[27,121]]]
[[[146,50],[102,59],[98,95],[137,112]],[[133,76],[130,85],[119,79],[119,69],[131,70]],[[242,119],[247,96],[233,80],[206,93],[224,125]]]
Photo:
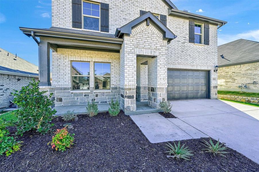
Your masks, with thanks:
[[[94,63],[94,89],[110,89],[111,63]]]

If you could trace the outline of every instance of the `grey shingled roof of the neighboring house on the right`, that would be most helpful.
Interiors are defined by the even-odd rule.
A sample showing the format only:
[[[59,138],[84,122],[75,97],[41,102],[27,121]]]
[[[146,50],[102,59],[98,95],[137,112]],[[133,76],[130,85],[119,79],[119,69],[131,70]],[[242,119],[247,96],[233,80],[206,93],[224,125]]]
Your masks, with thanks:
[[[239,39],[218,46],[219,67],[252,62],[259,62],[259,42]]]

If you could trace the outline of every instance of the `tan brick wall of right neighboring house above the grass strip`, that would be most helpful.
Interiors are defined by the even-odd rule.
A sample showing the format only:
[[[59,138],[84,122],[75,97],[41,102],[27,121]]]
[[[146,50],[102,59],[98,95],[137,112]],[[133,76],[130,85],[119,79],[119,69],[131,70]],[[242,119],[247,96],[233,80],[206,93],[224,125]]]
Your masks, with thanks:
[[[247,84],[247,89],[243,91],[259,92],[259,62],[219,67],[219,90],[240,91],[239,85],[254,81],[256,84]]]

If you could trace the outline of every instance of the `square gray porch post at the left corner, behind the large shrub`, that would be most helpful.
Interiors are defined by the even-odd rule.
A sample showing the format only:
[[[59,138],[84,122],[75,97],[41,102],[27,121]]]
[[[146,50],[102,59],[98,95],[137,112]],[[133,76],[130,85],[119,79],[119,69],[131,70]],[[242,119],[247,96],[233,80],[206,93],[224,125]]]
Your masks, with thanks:
[[[39,53],[39,86],[51,86],[50,82],[50,44],[40,40]]]

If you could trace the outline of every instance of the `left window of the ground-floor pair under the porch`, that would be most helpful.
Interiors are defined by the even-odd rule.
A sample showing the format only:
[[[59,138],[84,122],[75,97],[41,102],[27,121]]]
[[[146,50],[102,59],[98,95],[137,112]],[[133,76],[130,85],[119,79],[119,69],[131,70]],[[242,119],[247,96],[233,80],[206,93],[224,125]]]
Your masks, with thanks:
[[[71,62],[71,78],[73,90],[89,90],[90,63]]]

